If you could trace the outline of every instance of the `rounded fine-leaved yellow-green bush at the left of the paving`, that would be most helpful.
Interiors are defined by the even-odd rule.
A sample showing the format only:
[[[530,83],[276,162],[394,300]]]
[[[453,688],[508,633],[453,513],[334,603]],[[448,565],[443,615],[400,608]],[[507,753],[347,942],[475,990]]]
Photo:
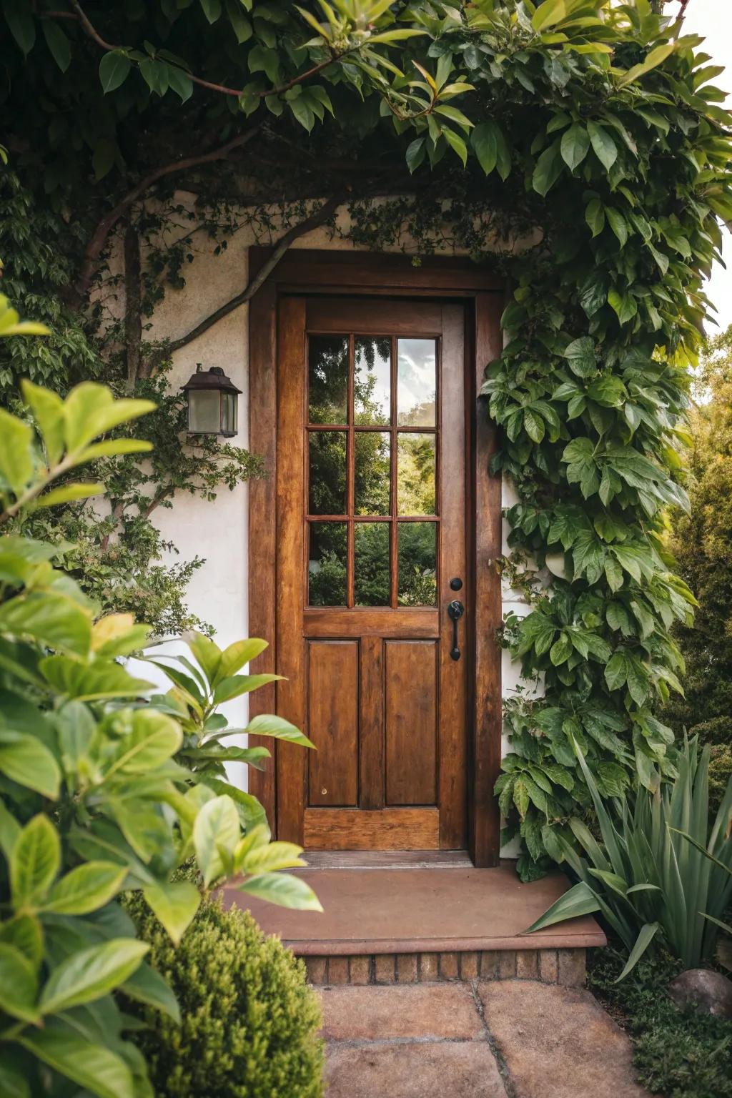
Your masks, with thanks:
[[[305,968],[248,911],[207,901],[173,948],[138,896],[127,901],[149,960],[173,989],[180,1026],[134,1001],[133,1034],[158,1098],[317,1098],[323,1050]]]

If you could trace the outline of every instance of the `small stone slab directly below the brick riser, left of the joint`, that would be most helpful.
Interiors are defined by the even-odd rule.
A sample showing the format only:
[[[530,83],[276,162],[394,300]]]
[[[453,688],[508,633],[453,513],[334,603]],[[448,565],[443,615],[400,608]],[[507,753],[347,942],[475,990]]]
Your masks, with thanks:
[[[470,984],[370,986],[360,988],[356,998],[354,1011],[350,987],[331,987],[322,993],[326,1041],[471,1040],[483,1035]]]

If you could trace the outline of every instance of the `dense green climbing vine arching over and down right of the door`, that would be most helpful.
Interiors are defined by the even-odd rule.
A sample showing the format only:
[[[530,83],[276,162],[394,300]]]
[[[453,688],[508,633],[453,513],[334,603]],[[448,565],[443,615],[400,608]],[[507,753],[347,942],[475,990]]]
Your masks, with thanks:
[[[32,21],[45,26],[57,7],[40,4]],[[150,211],[174,206],[174,186],[199,195],[196,224],[217,247],[267,201],[305,202],[273,240],[329,202],[322,221],[359,245],[396,245],[416,262],[458,247],[506,277],[505,349],[483,396],[499,428],[493,472],[517,494],[505,580],[522,586],[530,613],[504,630],[527,688],[506,705],[514,753],[496,792],[508,833],[523,840],[521,872],[541,873],[588,804],[574,744],[607,796],[630,782],[653,788],[674,768],[662,707],[683,665],[671,630],[694,597],[663,535],[668,508],[686,506],[703,277],[719,220],[732,219],[732,117],[711,83],[720,69],[649,0],[342,0],[304,14],[258,0],[180,11],[161,0],[147,23],[120,7],[105,22],[72,2],[63,21],[81,69],[64,102],[86,128],[76,158],[57,143],[45,201],[67,240],[53,262],[68,267],[70,291],[57,296],[71,309],[69,339],[79,299],[81,315],[99,311],[88,287],[113,288],[114,233],[125,220],[146,232]],[[19,76],[12,61],[12,104],[20,112],[25,93],[22,117],[37,121],[33,112],[50,109],[29,93],[38,77],[27,22],[11,30],[31,71]],[[129,44],[143,41],[144,52]],[[66,55],[56,59],[63,68]],[[100,79],[105,111],[92,119],[78,97],[93,102]],[[54,94],[56,114],[55,83]],[[137,132],[145,139],[133,147]],[[193,132],[207,144],[181,158]],[[156,135],[178,160],[154,163]],[[36,150],[9,148],[33,190]],[[93,201],[75,222],[60,211],[74,205],[68,181],[80,170]],[[34,202],[40,210],[37,192]],[[348,227],[331,222],[338,202]],[[149,309],[166,280],[187,277],[185,246],[169,260],[166,247],[143,248]],[[25,315],[32,304],[25,294]],[[148,361],[156,348],[144,330],[138,338]]]

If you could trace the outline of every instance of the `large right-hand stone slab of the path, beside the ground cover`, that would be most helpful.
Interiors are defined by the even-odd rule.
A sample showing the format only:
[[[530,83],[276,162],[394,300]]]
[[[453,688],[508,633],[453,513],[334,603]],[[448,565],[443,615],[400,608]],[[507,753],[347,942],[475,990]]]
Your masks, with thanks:
[[[533,981],[477,990],[514,1098],[645,1098],[628,1037],[589,991]]]

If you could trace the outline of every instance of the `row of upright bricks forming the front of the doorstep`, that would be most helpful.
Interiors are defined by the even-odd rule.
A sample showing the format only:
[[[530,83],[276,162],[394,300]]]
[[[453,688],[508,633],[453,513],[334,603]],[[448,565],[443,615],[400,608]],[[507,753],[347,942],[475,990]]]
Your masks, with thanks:
[[[496,950],[483,953],[379,953],[307,956],[307,979],[318,987],[342,984],[419,984],[436,981],[539,979],[582,987],[585,951]]]

